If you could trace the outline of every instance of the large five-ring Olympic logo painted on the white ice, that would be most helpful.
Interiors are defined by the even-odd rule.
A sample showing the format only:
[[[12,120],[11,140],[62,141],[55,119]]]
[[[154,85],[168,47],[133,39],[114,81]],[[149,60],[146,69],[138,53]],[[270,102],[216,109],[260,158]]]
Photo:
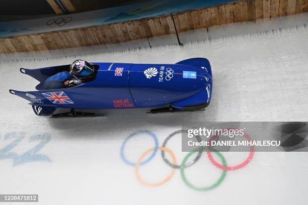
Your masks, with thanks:
[[[176,157],[174,155],[174,153],[166,147],[168,141],[175,135],[177,134],[180,134],[180,133],[187,133],[188,131],[187,130],[178,130],[176,132],[173,132],[172,134],[170,134],[166,139],[165,141],[163,142],[163,145],[162,146],[159,146],[159,143],[158,143],[158,139],[156,137],[156,135],[150,131],[138,131],[138,132],[135,132],[135,133],[132,133],[131,135],[129,135],[123,142],[122,146],[121,146],[121,158],[122,160],[130,165],[130,166],[134,166],[135,167],[135,176],[138,180],[139,183],[143,184],[143,185],[146,185],[146,186],[152,186],[152,187],[156,187],[156,186],[160,186],[160,185],[163,185],[165,183],[167,183],[172,177],[173,175],[175,174],[175,171],[176,169],[180,169],[180,172],[181,172],[181,178],[183,179],[184,183],[194,189],[194,190],[198,190],[198,191],[208,191],[208,190],[212,190],[214,188],[216,188],[222,181],[223,179],[225,178],[226,176],[226,171],[232,171],[232,170],[237,170],[237,169],[240,169],[240,168],[243,168],[244,166],[246,166],[250,161],[251,159],[253,158],[254,156],[254,147],[251,146],[250,147],[250,154],[249,156],[247,157],[247,159],[239,164],[239,165],[236,165],[236,166],[227,166],[227,163],[226,163],[226,160],[225,158],[223,157],[223,155],[215,150],[214,148],[205,148],[205,147],[200,147],[196,150],[193,150],[191,152],[189,152],[183,159],[183,161],[181,162],[180,165],[177,164],[177,160],[176,160]],[[134,137],[135,135],[138,135],[138,134],[147,134],[149,135],[150,137],[153,138],[153,141],[154,141],[154,147],[152,148],[149,148],[148,150],[146,150],[143,154],[141,154],[141,156],[139,157],[139,159],[137,160],[137,162],[130,162],[126,159],[125,155],[124,155],[124,148],[125,148],[125,145],[127,143],[128,140],[130,140],[132,137]],[[212,140],[215,140],[218,136],[212,136],[210,141]],[[249,137],[248,134],[244,133],[244,137],[248,140],[248,141],[252,141],[252,139]],[[199,142],[201,142],[201,138],[199,136],[196,137],[197,140]],[[161,151],[161,155],[162,155],[162,158],[163,160],[172,168],[170,174],[165,178],[163,179],[162,181],[159,181],[159,182],[147,182],[145,180],[143,180],[139,174],[139,167],[141,165],[144,165],[146,164],[147,162],[149,162],[153,157],[155,157],[157,151],[160,150]],[[171,156],[171,159],[172,159],[172,162],[170,162],[166,157],[165,157],[165,152],[167,152],[170,156]],[[193,155],[195,152],[198,152],[197,156],[190,162],[187,162],[188,159],[191,157],[191,155]],[[185,168],[187,167],[190,167],[192,166],[193,164],[195,164],[201,157],[202,153],[203,152],[206,152],[207,153],[207,157],[209,158],[210,162],[218,167],[219,169],[222,170],[221,172],[221,175],[220,177],[218,178],[218,180],[209,185],[209,186],[205,186],[205,187],[197,187],[195,185],[193,185],[192,183],[190,183],[188,181],[188,179],[186,178],[185,176]],[[151,154],[150,154],[151,153]],[[212,157],[212,153],[215,153],[219,159],[221,160],[221,164],[216,162],[214,160],[214,158]],[[148,154],[150,154],[147,158],[145,158]]]

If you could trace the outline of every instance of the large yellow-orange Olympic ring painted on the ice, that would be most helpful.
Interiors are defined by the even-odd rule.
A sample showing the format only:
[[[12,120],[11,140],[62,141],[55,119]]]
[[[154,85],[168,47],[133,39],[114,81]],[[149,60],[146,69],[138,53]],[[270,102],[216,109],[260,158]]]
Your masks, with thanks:
[[[156,183],[146,182],[146,181],[144,181],[144,180],[141,178],[141,176],[140,176],[140,174],[139,174],[139,164],[140,164],[140,162],[142,161],[142,159],[143,159],[148,153],[154,151],[155,149],[156,149],[156,147],[152,147],[152,148],[146,150],[146,151],[140,156],[140,158],[138,159],[138,161],[137,161],[137,163],[136,163],[136,166],[135,166],[135,175],[136,175],[138,181],[139,181],[141,184],[146,185],[146,186],[160,186],[160,185],[163,185],[163,184],[167,183],[167,182],[173,177],[173,175],[174,175],[174,173],[175,173],[175,168],[172,168],[171,173],[169,174],[169,176],[167,176],[163,181],[156,182]],[[171,157],[172,157],[173,164],[176,164],[176,163],[177,163],[177,160],[176,160],[176,157],[175,157],[174,153],[173,153],[169,148],[167,148],[167,147],[158,147],[158,149],[161,150],[161,151],[164,151],[164,152],[165,152],[165,151],[168,152],[168,153],[171,155]]]

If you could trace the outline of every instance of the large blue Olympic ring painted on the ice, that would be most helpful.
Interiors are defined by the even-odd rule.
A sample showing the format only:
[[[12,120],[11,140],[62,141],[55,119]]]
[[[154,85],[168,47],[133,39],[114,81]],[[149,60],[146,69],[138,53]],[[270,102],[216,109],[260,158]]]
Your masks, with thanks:
[[[138,131],[138,132],[134,132],[134,133],[130,134],[130,135],[124,140],[124,142],[123,142],[123,144],[122,144],[122,146],[121,146],[121,158],[122,158],[122,160],[123,160],[126,164],[131,165],[131,166],[135,166],[136,163],[130,162],[130,161],[128,161],[128,160],[125,158],[125,156],[124,156],[124,147],[125,147],[127,141],[128,141],[130,138],[132,138],[132,137],[135,136],[136,134],[140,134],[140,133],[146,133],[146,134],[148,134],[149,136],[151,136],[151,137],[154,139],[155,148],[154,148],[153,153],[152,153],[146,160],[142,161],[139,165],[143,165],[143,164],[149,162],[149,161],[155,156],[156,152],[158,151],[158,139],[157,139],[157,137],[156,137],[156,135],[155,135],[154,133],[152,133],[152,132],[150,132],[150,131],[147,131],[147,130],[144,130],[144,131]]]

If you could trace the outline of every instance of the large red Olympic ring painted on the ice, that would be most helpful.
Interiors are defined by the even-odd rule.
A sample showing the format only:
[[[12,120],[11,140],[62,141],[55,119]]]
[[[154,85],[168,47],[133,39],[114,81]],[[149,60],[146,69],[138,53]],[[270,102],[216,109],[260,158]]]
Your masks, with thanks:
[[[228,128],[227,130],[235,130],[233,128]],[[216,137],[218,137],[218,135],[214,135],[211,139],[210,139],[210,142],[213,141]],[[249,137],[248,134],[244,133],[244,137],[248,140],[248,141],[252,141],[252,139]],[[216,162],[214,160],[214,158],[212,157],[212,154],[210,151],[207,151],[207,157],[208,159],[212,162],[213,165],[215,165],[216,167],[218,167],[219,169],[223,169],[223,170],[226,170],[226,171],[232,171],[232,170],[237,170],[237,169],[241,169],[243,168],[244,166],[246,166],[250,161],[251,159],[253,158],[254,156],[254,153],[255,153],[255,149],[254,149],[254,146],[250,146],[250,153],[249,153],[249,156],[247,157],[247,159],[239,164],[239,165],[236,165],[236,166],[223,166],[221,164],[219,164],[218,162]]]

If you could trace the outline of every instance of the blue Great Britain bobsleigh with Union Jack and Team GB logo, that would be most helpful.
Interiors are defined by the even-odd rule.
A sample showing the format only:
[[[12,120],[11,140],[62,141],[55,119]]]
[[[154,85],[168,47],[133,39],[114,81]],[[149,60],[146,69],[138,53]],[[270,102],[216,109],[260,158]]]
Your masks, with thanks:
[[[57,108],[71,109],[58,116],[92,116],[74,109],[152,108],[150,113],[205,109],[211,99],[212,73],[206,58],[176,64],[91,63],[95,77],[75,87],[43,90],[51,75],[68,71],[70,65],[20,71],[37,79],[36,91],[12,94],[30,101],[38,116],[52,115]]]

